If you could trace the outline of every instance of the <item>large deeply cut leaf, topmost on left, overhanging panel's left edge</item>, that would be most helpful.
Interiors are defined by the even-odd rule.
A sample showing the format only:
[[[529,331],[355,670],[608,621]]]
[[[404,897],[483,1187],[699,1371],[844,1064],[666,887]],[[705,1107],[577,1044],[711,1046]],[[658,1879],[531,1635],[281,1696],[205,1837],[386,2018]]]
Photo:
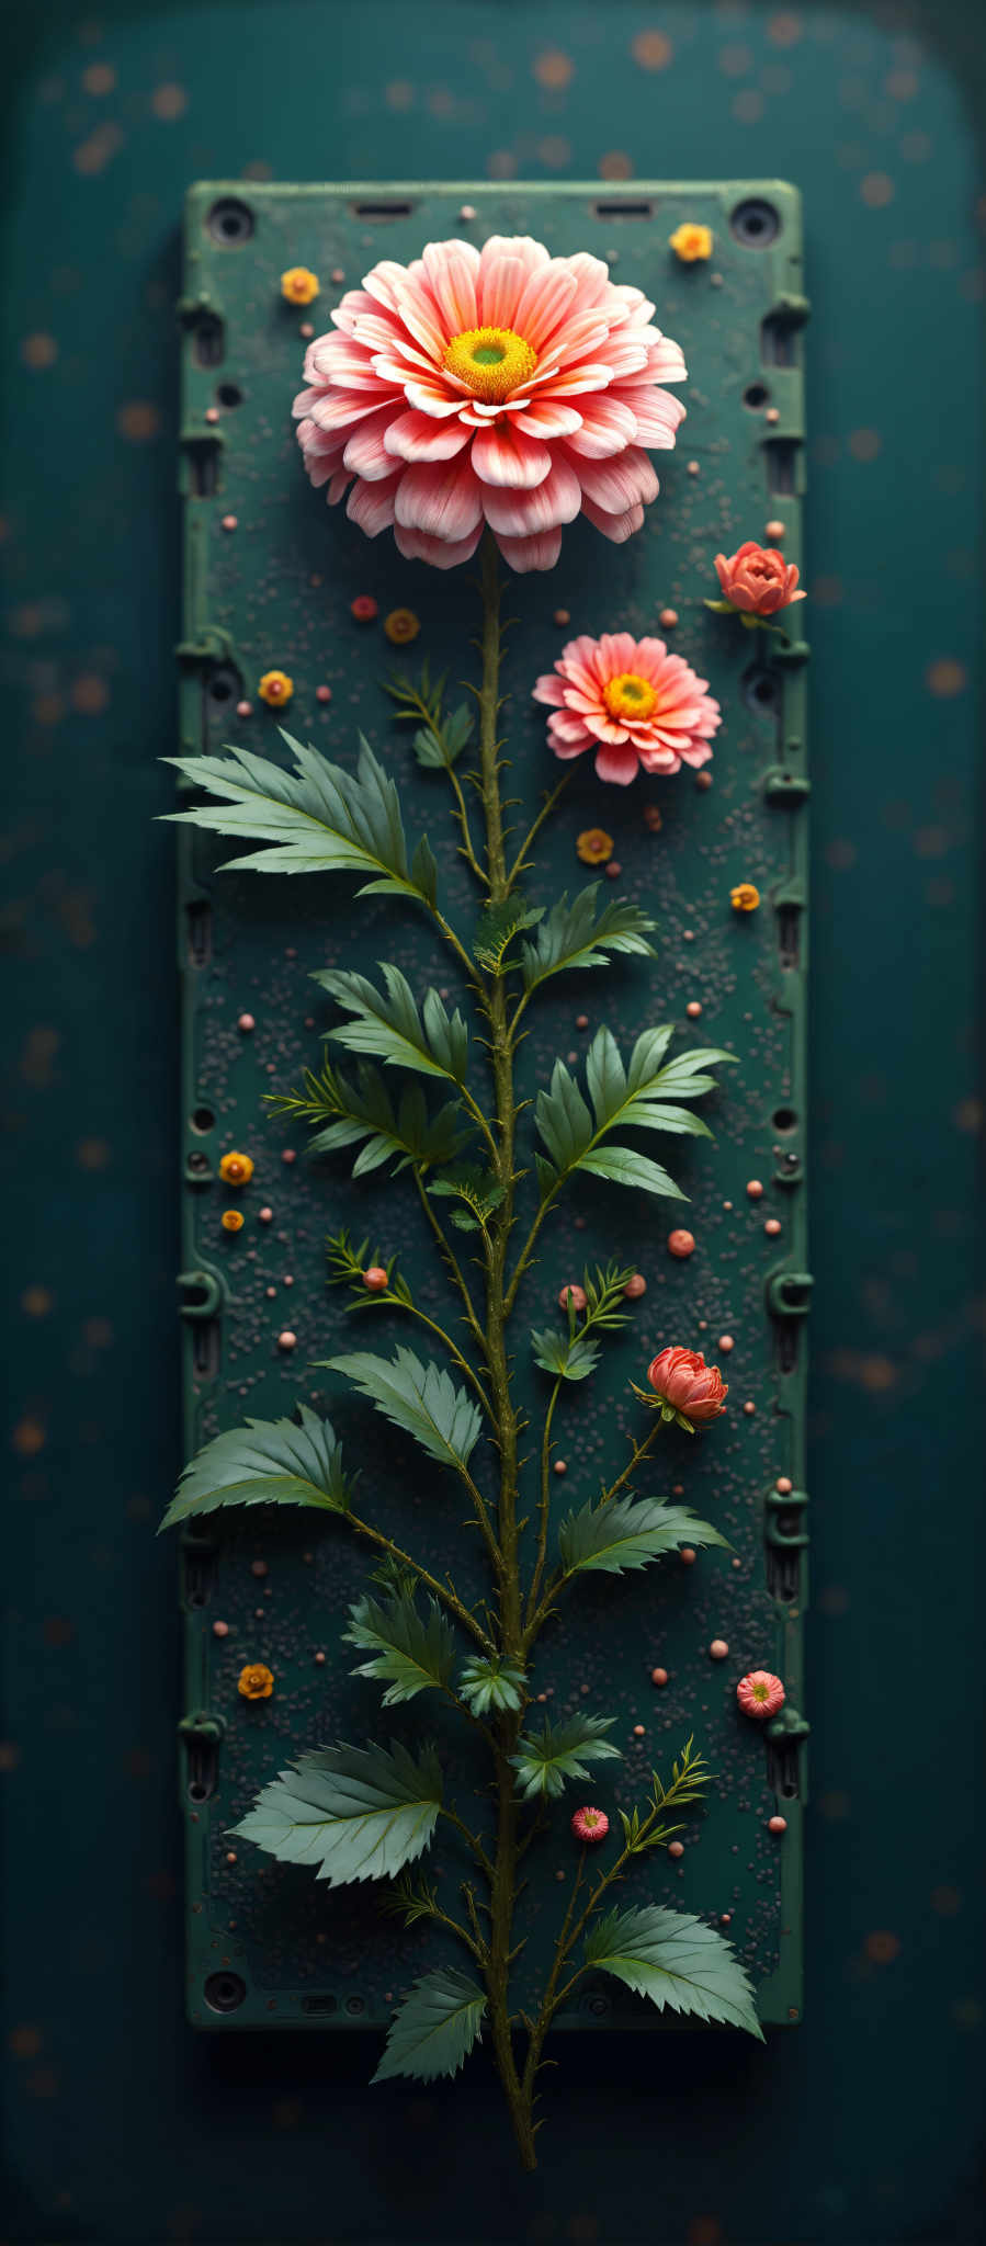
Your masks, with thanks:
[[[209,833],[270,844],[247,858],[229,858],[225,871],[368,874],[362,896],[418,896],[431,905],[431,851],[409,869],[398,788],[368,741],[359,734],[357,770],[346,773],[290,732],[281,730],[281,739],[294,757],[294,773],[283,773],[249,748],[229,748],[227,759],[166,757],[195,788],[218,797],[222,809],[198,804],[193,811],[164,815]]]

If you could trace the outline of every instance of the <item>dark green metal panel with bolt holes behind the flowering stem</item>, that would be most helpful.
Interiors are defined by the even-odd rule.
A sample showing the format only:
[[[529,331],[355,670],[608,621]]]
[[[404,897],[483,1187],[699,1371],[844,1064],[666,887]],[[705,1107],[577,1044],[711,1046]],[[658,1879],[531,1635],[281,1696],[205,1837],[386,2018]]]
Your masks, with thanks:
[[[463,202],[476,218],[463,218]],[[683,267],[667,238],[685,218],[714,231],[710,265]],[[341,512],[326,512],[308,490],[294,456],[290,400],[303,346],[299,312],[279,294],[287,265],[310,265],[323,281],[312,308],[328,326],[328,303],[344,274],[355,285],[377,256],[409,261],[427,240],[469,231],[535,234],[555,252],[586,247],[609,256],[615,279],[658,301],[658,321],[685,350],[687,422],[678,449],[658,460],[663,492],[645,530],[622,548],[606,546],[588,523],[566,532],[550,575],[512,582],[505,683],[512,694],[505,739],[510,788],[528,815],[557,770],[544,739],[544,712],[530,685],[570,631],[658,631],[658,611],[674,606],[669,633],[723,705],[714,750],[714,786],[696,788],[690,773],[669,782],[640,779],[606,788],[577,770],[557,818],[544,831],[535,898],[550,898],[582,876],[575,836],[582,827],[613,831],[618,894],[658,919],[658,961],[620,961],[606,977],[562,979],[562,997],[535,1017],[521,1065],[530,1098],[546,1083],[557,1051],[577,1058],[584,1033],[575,1022],[606,1020],[629,1042],[647,1020],[676,1020],[690,1042],[725,1044],[739,1067],[707,1103],[716,1145],[690,1148],[672,1170],[690,1195],[687,1224],[696,1253],[681,1264],[667,1253],[678,1204],[609,1186],[582,1190],[544,1235],[539,1267],[521,1298],[517,1336],[557,1316],[559,1285],[582,1264],[618,1256],[638,1262],[647,1298],[633,1334],[606,1352],[586,1384],[566,1395],[559,1449],[566,1476],[557,1512],[584,1503],[597,1480],[624,1462],[627,1379],[667,1341],[701,1345],[714,1359],[719,1334],[732,1404],[707,1440],[669,1435],[654,1476],[640,1487],[685,1491],[701,1514],[725,1530],[728,1554],[703,1554],[692,1570],[669,1563],[615,1590],[573,1597],[544,1635],[535,1689],[566,1711],[591,1693],[591,1707],[618,1716],[624,1768],[595,1799],[627,1806],[647,1770],[667,1765],[694,1734],[716,1772],[710,1815],[687,1835],[681,1864],[647,1860],[633,1893],[678,1900],[730,1923],[748,1963],[766,2021],[800,2017],[802,1952],[802,1613],[806,1599],[804,1532],[804,968],[806,968],[806,645],[748,633],[734,618],[712,615],[712,555],[764,537],[770,517],[784,521],[784,553],[800,559],[804,487],[802,229],[797,191],[775,180],[721,184],[633,182],[633,193],[597,184],[503,186],[346,184],[258,186],[207,182],[189,193],[182,296],[182,451],[184,451],[184,633],[180,647],[182,750],[240,746],[283,755],[279,721],[256,699],[270,667],[294,681],[287,725],[346,759],[357,728],[393,761],[413,829],[427,827],[440,860],[442,892],[458,925],[476,905],[460,867],[440,782],[413,764],[407,737],[389,725],[382,676],[391,667],[380,624],[350,615],[355,593],[373,593],[384,615],[413,606],[422,620],[413,656],[433,669],[463,674],[476,629],[469,570],[440,575],[404,564],[389,537],[368,544]],[[766,420],[766,411],[777,420]],[[236,517],[236,528],[222,528]],[[553,622],[564,606],[570,627]],[[797,631],[800,611],[786,622]],[[773,654],[777,649],[777,654]],[[404,660],[404,658],[402,658]],[[328,685],[332,701],[317,701]],[[234,716],[240,699],[252,716]],[[586,759],[588,764],[588,759]],[[645,806],[663,813],[660,831]],[[523,822],[526,824],[526,822]],[[339,885],[314,878],[256,880],[216,874],[229,847],[204,836],[182,842],[180,948],[184,970],[184,1217],[182,1287],[186,1316],[184,1381],[189,1449],[247,1413],[274,1417],[299,1395],[332,1410],[350,1460],[364,1464],[366,1505],[391,1534],[438,1574],[476,1595],[481,1572],[458,1527],[456,1503],[429,1487],[400,1437],[380,1435],[366,1406],[339,1395],[339,1384],[305,1370],[312,1357],[344,1348],[344,1309],[326,1289],[323,1235],[346,1224],[357,1238],[398,1251],[402,1267],[436,1300],[433,1249],[418,1204],[382,1172],[350,1184],[348,1163],[303,1161],[294,1134],[283,1159],[283,1127],[263,1112],[267,1089],[287,1089],[317,1060],[332,1011],[312,995],[310,970],[346,964],[373,973],[395,959],[416,988],[445,968],[431,937],[409,925],[391,901],[353,912]],[[730,887],[752,880],[761,910],[737,914]],[[699,999],[701,1029],[685,1015]],[[249,1011],[256,1031],[243,1035]],[[256,1161],[243,1197],[245,1229],[229,1238],[220,1211],[229,1202],[216,1163],[225,1148]],[[530,1159],[530,1157],[528,1157]],[[748,1181],[759,1179],[759,1199]],[[272,1208],[261,1224],[258,1206]],[[766,1220],[779,1235],[766,1233]],[[377,1314],[375,1314],[377,1318]],[[299,1348],[285,1359],[283,1327]],[[362,1334],[366,1327],[362,1327]],[[391,1336],[391,1325],[386,1330]],[[400,1323],[393,1325],[400,1339]],[[373,1345],[380,1345],[380,1318]],[[517,1348],[517,1341],[514,1341]],[[523,1348],[517,1350],[523,1359]],[[314,1388],[312,1388],[314,1384]],[[537,1428],[546,1384],[521,1375],[521,1399]],[[627,1408],[629,1406],[629,1408]],[[779,1496],[775,1485],[793,1485]],[[532,1512],[532,1503],[530,1503]],[[339,1646],[348,1597],[366,1579],[366,1561],[337,1525],[312,1530],[299,1518],[258,1525],[204,1525],[184,1532],[186,1711],[182,1799],[189,1835],[189,2012],[202,2026],[380,2026],[422,1963],[440,1956],[433,1936],[400,1934],[377,1923],[373,1891],[326,1893],[308,1873],[265,1866],[247,1846],[229,1848],[229,1826],[258,1788],[301,1747],[328,1738],[380,1734],[373,1684],[350,1678]],[[465,1543],[465,1559],[460,1556]],[[216,1635],[222,1624],[222,1635]],[[712,1637],[730,1658],[712,1662]],[[323,1653],[323,1662],[314,1655]],[[236,1678],[245,1660],[276,1671],[274,1696],[249,1707]],[[669,1669],[656,1691],[651,1667]],[[766,1664],[786,1678],[788,1707],[775,1741],[746,1723],[734,1682]],[[645,1738],[633,1727],[645,1725]],[[786,1725],[786,1729],[784,1729]],[[400,1723],[395,1725],[400,1732]],[[420,1729],[420,1725],[418,1725]],[[483,1786],[451,1727],[436,1718],[442,1761],[463,1790]],[[782,1808],[779,1844],[766,1830]],[[440,1880],[463,1875],[456,1851],[436,1848]],[[517,2001],[530,2001],[553,1952],[570,1878],[568,1815],[555,1813],[546,1842],[528,1857],[530,1889],[519,1914],[528,1947],[517,1967]],[[656,2019],[642,2001],[586,1983],[564,2024],[642,2026]]]

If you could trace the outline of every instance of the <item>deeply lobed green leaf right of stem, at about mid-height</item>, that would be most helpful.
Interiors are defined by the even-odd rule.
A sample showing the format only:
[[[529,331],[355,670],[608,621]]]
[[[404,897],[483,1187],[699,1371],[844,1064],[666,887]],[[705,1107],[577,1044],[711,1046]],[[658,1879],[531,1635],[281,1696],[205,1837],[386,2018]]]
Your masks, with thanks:
[[[710,1136],[707,1125],[687,1107],[678,1107],[676,1101],[701,1098],[703,1092],[714,1089],[714,1076],[703,1074],[705,1065],[734,1056],[721,1051],[678,1053],[663,1067],[669,1040],[672,1029],[667,1026],[645,1029],[633,1044],[629,1065],[624,1065],[613,1033],[606,1026],[597,1029],[586,1053],[586,1089],[593,1110],[588,1110],[566,1065],[555,1062],[550,1089],[537,1094],[537,1130],[550,1157],[550,1161],[544,1154],[537,1157],[541,1199],[553,1197],[573,1170],[591,1170],[620,1186],[685,1199],[660,1163],[636,1154],[633,1148],[611,1143],[611,1132],[618,1127]]]

